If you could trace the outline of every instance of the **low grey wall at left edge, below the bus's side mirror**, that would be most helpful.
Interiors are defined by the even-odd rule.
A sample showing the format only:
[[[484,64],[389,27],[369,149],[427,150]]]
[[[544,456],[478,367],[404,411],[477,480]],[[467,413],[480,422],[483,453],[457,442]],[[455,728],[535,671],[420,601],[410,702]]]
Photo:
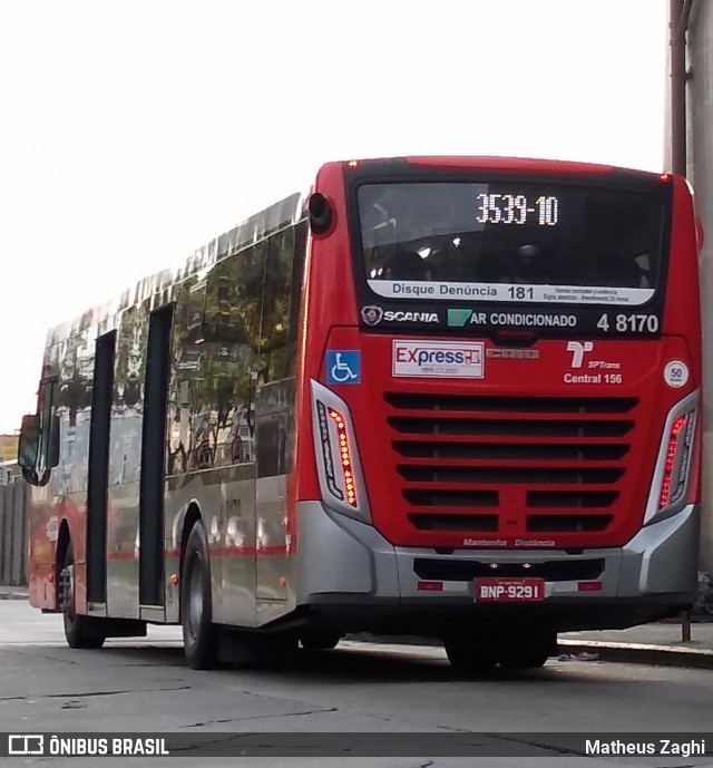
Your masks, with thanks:
[[[6,586],[27,583],[28,497],[22,480],[0,486],[0,584]]]

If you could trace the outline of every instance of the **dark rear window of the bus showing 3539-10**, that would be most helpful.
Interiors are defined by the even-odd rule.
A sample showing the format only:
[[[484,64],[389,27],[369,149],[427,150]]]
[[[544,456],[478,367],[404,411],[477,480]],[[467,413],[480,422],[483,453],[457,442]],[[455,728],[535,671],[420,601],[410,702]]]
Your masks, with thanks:
[[[549,182],[364,184],[369,286],[391,298],[644,304],[663,192]]]

